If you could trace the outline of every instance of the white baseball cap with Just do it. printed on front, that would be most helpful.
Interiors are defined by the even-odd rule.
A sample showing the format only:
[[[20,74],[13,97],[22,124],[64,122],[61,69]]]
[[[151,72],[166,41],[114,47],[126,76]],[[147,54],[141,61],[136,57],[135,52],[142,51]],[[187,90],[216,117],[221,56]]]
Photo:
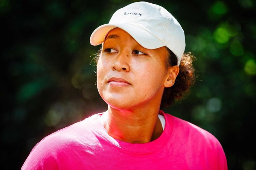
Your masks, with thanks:
[[[177,56],[178,66],[185,50],[185,34],[178,21],[162,6],[149,2],[134,2],[117,10],[109,24],[92,32],[91,45],[104,43],[110,30],[128,32],[141,46],[148,49],[168,47]]]

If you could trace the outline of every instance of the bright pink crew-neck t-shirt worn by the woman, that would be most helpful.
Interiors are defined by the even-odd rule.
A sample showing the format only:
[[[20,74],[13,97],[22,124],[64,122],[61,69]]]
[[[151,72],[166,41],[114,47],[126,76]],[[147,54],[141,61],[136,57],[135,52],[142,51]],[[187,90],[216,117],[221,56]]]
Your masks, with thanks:
[[[101,113],[102,114],[102,113]],[[162,135],[144,144],[109,136],[97,119],[75,123],[45,137],[22,170],[227,170],[219,141],[211,133],[170,114]]]

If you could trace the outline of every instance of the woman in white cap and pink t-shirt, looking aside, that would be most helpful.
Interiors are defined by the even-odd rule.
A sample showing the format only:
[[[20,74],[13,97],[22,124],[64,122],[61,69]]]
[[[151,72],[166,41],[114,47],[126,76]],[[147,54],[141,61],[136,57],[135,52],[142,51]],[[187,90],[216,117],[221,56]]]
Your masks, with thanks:
[[[213,135],[160,110],[194,82],[193,56],[167,10],[127,5],[90,42],[102,44],[97,88],[107,111],[44,138],[22,169],[227,169]]]

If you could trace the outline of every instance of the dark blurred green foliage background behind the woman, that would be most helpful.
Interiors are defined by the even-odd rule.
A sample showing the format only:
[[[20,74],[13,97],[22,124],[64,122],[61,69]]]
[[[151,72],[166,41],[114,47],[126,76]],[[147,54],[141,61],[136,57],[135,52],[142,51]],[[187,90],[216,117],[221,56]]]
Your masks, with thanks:
[[[1,169],[20,169],[46,135],[105,111],[92,31],[133,0],[0,0]],[[165,109],[215,135],[230,170],[255,170],[256,2],[150,0],[169,10],[197,57],[199,75]]]

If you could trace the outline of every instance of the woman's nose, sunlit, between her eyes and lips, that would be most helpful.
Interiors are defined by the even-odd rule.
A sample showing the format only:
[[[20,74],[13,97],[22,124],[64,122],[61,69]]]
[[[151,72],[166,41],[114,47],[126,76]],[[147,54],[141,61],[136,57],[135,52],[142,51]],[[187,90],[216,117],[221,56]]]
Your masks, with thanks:
[[[112,64],[113,71],[130,71],[130,57],[124,53],[119,53]]]

